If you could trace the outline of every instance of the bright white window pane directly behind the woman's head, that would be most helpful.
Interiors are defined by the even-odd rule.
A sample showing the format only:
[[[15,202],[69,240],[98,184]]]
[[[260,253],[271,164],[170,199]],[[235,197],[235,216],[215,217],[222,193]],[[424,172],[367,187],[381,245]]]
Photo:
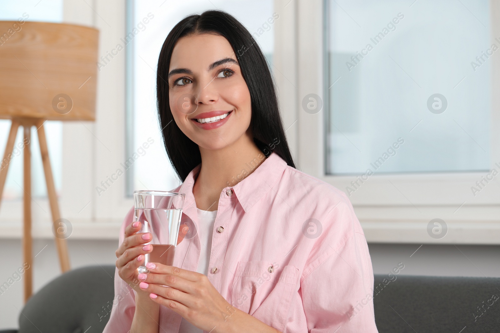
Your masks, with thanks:
[[[184,16],[208,9],[221,9],[234,15],[253,34],[266,59],[272,62],[274,26],[267,22],[273,13],[272,0],[132,1],[131,26],[137,26],[144,17],[148,23],[142,24],[133,38],[133,111],[129,121],[133,124],[134,139],[129,153],[137,152],[144,143],[148,148],[141,149],[142,154],[139,152],[140,157],[133,163],[133,188],[127,195],[133,190],[170,190],[180,184],[161,140],[155,71],[161,45],[173,26]],[[154,17],[151,18],[151,14]],[[272,69],[271,64],[269,67]]]

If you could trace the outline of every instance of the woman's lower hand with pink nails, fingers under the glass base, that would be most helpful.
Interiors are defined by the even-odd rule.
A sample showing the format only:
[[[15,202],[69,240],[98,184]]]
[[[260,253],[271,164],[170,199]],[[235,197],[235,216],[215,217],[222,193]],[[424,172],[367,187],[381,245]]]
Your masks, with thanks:
[[[151,264],[146,264],[149,273],[138,276],[142,281],[141,290],[149,292],[151,300],[176,312],[197,328],[210,332],[218,326],[213,332],[222,332],[228,317],[239,311],[219,294],[205,275],[159,263],[151,268]]]

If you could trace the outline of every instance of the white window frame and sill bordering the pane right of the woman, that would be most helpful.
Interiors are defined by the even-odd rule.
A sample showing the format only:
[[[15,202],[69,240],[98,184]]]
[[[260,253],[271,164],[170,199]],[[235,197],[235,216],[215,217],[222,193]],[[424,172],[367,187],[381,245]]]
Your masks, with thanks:
[[[324,29],[328,1],[295,1],[297,28],[288,33],[296,33],[299,97],[309,93],[327,96]],[[500,5],[490,1],[490,13],[499,17]],[[490,29],[491,35],[499,34],[498,20],[491,19]],[[493,61],[491,91],[497,91],[500,59],[490,60]],[[494,162],[500,161],[500,149],[493,143],[500,138],[500,133],[494,131],[500,125],[499,99],[492,94],[490,169],[497,170]],[[303,112],[300,100],[296,107],[298,126],[294,141],[298,144],[293,148],[297,168],[346,192],[346,186],[350,186],[355,176],[325,173],[327,101],[317,114]],[[498,181],[481,190],[484,191],[481,196],[474,198],[471,191],[464,195],[484,175],[484,172],[374,174],[348,198],[368,242],[500,244],[500,195],[495,191]],[[448,226],[447,235],[438,240],[426,232],[427,223],[434,218],[443,219]]]

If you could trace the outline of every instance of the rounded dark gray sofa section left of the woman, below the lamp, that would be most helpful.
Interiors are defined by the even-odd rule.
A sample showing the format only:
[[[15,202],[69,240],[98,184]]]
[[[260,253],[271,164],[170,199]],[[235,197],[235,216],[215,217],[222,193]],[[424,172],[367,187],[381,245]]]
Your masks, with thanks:
[[[101,333],[114,298],[114,266],[66,272],[31,296],[19,314],[19,330],[0,333]],[[109,303],[108,303],[109,302]],[[104,308],[103,308],[104,307]]]

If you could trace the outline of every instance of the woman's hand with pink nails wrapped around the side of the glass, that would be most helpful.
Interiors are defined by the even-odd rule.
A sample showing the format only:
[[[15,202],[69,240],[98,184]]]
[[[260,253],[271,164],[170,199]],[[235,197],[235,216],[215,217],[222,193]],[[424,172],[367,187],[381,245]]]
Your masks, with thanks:
[[[135,227],[134,227],[135,226]],[[127,283],[136,292],[145,293],[139,288],[139,280],[137,279],[137,268],[143,263],[144,255],[151,253],[152,244],[143,245],[151,240],[151,233],[139,233],[141,223],[133,222],[125,228],[125,238],[115,252],[116,268],[118,269],[119,277]],[[177,244],[179,244],[187,233],[187,225],[182,224],[179,228]]]

